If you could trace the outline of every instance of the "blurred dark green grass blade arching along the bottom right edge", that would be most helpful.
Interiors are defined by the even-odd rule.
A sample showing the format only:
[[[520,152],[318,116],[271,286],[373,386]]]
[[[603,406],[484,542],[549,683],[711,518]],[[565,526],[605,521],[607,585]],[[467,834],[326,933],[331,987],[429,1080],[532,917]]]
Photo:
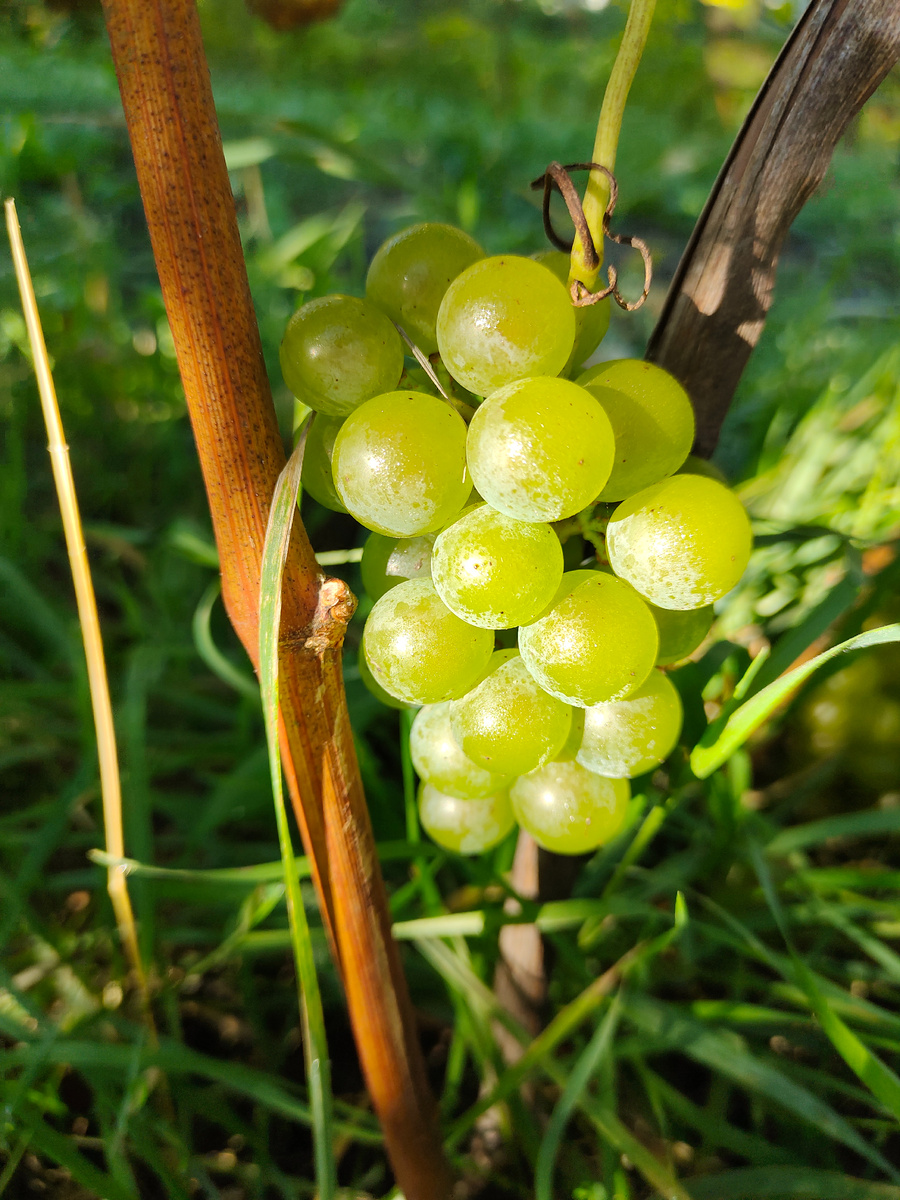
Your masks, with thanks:
[[[689,1180],[694,1200],[900,1200],[900,1188],[809,1166],[750,1166]]]

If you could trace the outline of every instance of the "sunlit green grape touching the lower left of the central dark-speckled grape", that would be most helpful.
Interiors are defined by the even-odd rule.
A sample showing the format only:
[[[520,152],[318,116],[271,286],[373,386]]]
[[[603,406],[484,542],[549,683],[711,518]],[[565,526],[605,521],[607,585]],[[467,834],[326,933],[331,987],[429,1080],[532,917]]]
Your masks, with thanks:
[[[407,580],[376,601],[362,632],[366,661],[397,700],[438,704],[464,695],[493,653],[493,634],[455,617],[431,580]]]

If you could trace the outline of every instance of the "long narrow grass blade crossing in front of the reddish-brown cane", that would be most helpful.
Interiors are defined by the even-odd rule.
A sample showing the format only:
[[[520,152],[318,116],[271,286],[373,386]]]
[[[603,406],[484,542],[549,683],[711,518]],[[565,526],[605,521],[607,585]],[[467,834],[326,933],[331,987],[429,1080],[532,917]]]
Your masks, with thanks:
[[[308,430],[308,425],[307,425]],[[259,686],[263,695],[265,738],[269,746],[275,820],[278,827],[278,845],[284,872],[290,942],[300,984],[300,1025],[304,1032],[306,1078],[310,1088],[313,1145],[316,1151],[316,1182],[319,1200],[332,1200],[336,1188],[335,1158],[332,1148],[331,1120],[331,1068],[325,1040],[325,1019],[322,995],[316,976],[310,926],[300,893],[296,859],[290,841],[290,827],[284,805],[284,788],[281,774],[281,749],[278,745],[278,642],[281,629],[281,584],[290,544],[290,527],[296,512],[300,491],[300,470],[304,462],[306,434],[298,442],[275,485],[275,496],[269,512],[269,526],[263,546],[263,564],[259,581]]]

